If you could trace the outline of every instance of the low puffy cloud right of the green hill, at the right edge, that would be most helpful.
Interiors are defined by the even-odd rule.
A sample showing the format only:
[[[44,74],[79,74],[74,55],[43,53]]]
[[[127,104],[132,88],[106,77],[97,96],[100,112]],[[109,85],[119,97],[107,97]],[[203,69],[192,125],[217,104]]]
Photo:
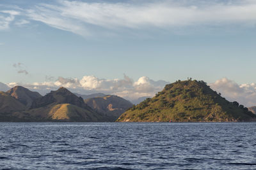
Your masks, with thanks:
[[[211,88],[221,93],[229,101],[237,101],[247,107],[256,105],[256,84],[239,85],[235,81],[221,78],[210,84]]]

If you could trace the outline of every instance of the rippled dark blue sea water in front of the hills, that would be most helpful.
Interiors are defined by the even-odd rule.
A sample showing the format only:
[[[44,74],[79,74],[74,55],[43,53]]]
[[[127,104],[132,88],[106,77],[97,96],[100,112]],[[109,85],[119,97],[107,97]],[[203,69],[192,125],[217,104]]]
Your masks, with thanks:
[[[0,169],[256,169],[256,123],[0,123]]]

